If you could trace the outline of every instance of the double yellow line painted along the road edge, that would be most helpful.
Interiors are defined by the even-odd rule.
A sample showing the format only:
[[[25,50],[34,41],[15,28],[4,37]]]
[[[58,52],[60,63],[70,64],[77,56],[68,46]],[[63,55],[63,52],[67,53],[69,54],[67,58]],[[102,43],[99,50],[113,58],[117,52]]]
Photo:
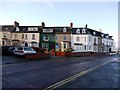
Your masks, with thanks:
[[[115,59],[115,60],[116,60],[116,59]],[[89,68],[89,69],[87,69],[87,70],[85,70],[85,71],[83,71],[83,72],[80,72],[80,73],[78,73],[78,74],[75,74],[75,75],[73,75],[73,76],[71,76],[71,77],[69,77],[69,78],[67,78],[67,79],[64,79],[64,80],[62,80],[62,81],[60,81],[60,82],[57,82],[57,83],[55,83],[55,84],[53,84],[53,85],[51,85],[51,86],[49,86],[49,87],[47,87],[47,88],[45,88],[45,89],[43,89],[43,90],[53,90],[53,89],[55,89],[55,88],[58,88],[58,87],[60,87],[60,86],[62,86],[62,85],[64,85],[64,84],[66,84],[66,83],[68,83],[68,82],[70,82],[70,81],[72,81],[72,80],[75,80],[76,78],[78,78],[78,77],[80,77],[80,76],[82,76],[82,75],[84,75],[84,74],[86,74],[86,73],[88,73],[88,72],[90,72],[90,71],[93,71],[93,70],[95,70],[95,69],[97,69],[97,68],[99,68],[99,67],[101,67],[101,66],[104,66],[105,64],[107,64],[107,63],[109,63],[109,62],[112,62],[112,61],[114,61],[114,60],[111,60],[111,61],[102,63],[102,64],[100,64],[100,65],[96,65],[95,67]]]

